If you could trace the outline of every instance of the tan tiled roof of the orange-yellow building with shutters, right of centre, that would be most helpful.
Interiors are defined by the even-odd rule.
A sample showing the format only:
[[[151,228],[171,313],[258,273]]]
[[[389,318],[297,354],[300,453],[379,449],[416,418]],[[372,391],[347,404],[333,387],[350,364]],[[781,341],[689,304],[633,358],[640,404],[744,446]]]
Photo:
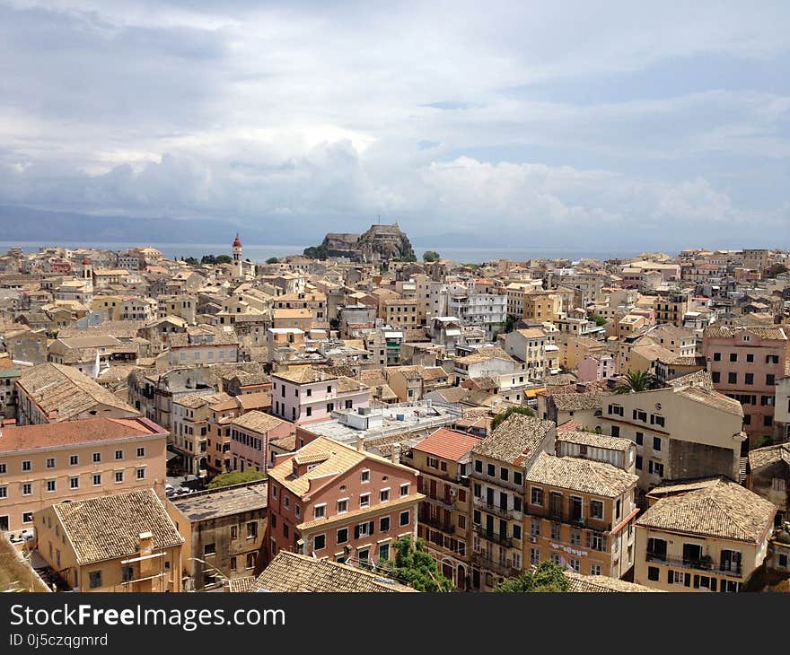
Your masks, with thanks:
[[[615,498],[636,485],[639,477],[605,462],[541,452],[526,479],[540,485]]]

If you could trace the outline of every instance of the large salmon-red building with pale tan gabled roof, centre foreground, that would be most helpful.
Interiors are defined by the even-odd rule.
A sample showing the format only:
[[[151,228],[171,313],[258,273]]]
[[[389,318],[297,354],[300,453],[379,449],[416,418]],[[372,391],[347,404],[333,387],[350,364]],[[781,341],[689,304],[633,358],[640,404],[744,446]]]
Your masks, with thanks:
[[[266,563],[282,550],[341,563],[389,560],[400,537],[417,538],[419,474],[361,445],[318,437],[276,456],[268,475]]]

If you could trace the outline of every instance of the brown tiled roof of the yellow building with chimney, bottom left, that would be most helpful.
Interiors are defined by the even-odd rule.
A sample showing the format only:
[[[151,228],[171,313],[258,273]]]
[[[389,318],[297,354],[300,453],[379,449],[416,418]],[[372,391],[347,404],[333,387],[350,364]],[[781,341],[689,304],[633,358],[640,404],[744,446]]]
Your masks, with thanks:
[[[59,502],[53,510],[81,564],[135,555],[144,532],[154,534],[155,549],[184,543],[153,489]]]

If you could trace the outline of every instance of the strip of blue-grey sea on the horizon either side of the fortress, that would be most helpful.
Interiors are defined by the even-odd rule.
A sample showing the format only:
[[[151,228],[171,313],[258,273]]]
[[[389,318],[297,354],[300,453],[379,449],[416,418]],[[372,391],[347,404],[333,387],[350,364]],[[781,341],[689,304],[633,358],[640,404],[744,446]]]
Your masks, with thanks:
[[[122,250],[142,246],[151,246],[162,252],[162,256],[167,259],[180,259],[194,257],[200,259],[204,255],[230,255],[231,244],[229,243],[108,243],[96,241],[67,241],[60,243],[39,243],[34,241],[0,241],[0,253],[6,252],[13,247],[22,248],[24,252],[38,252],[40,248],[49,246],[62,246],[68,249],[92,248],[102,250]],[[443,248],[437,244],[413,244],[417,258],[427,250],[434,250],[443,259],[464,264],[481,264],[483,262],[496,261],[498,259],[511,259],[513,261],[528,261],[529,259],[556,259],[567,258],[578,259],[613,259],[613,258],[632,258],[638,251],[622,250],[584,250],[584,249],[561,249],[561,248]],[[268,258],[282,258],[287,255],[302,254],[305,246],[303,245],[276,245],[276,244],[247,244],[243,246],[243,258],[259,264]]]

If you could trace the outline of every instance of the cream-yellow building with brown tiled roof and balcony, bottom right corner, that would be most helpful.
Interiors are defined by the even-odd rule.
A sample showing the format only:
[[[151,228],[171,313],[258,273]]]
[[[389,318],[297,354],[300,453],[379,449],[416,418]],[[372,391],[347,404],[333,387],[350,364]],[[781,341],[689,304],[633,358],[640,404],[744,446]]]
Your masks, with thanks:
[[[738,591],[765,560],[777,506],[725,477],[656,487],[636,520],[634,581]]]

